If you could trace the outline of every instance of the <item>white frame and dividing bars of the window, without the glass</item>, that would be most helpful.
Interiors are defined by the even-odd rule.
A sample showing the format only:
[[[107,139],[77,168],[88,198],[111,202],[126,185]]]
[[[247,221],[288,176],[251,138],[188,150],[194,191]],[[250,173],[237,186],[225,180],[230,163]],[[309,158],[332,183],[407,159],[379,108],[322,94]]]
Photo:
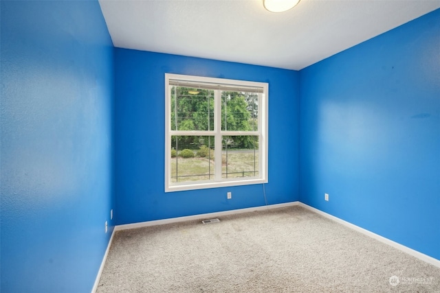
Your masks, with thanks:
[[[214,114],[217,120],[214,121],[214,130],[212,131],[188,131],[186,135],[258,135],[259,136],[259,177],[252,178],[221,178],[221,150],[222,143],[221,139],[215,140],[214,152],[215,152],[215,172],[220,176],[216,176],[214,180],[211,181],[199,181],[199,182],[189,182],[189,183],[172,183],[171,172],[170,172],[170,160],[171,160],[171,137],[173,135],[181,135],[181,130],[171,130],[170,117],[171,117],[171,103],[170,103],[170,80],[179,80],[182,82],[205,82],[212,84],[223,84],[225,86],[246,86],[246,87],[258,87],[263,89],[261,97],[259,99],[259,129],[258,131],[252,132],[241,132],[241,131],[222,131],[221,130],[221,115]],[[217,92],[216,92],[217,93]],[[263,184],[267,183],[267,154],[268,154],[268,106],[269,106],[269,84],[265,82],[250,82],[244,80],[228,80],[223,78],[206,78],[201,76],[193,75],[179,75],[172,73],[165,73],[165,192],[171,191],[184,191],[184,190],[195,190],[195,189],[206,189],[206,188],[217,188],[217,187],[230,187],[239,185],[253,185],[253,184]],[[221,113],[221,98],[215,95],[214,112]],[[220,159],[218,159],[220,158]]]

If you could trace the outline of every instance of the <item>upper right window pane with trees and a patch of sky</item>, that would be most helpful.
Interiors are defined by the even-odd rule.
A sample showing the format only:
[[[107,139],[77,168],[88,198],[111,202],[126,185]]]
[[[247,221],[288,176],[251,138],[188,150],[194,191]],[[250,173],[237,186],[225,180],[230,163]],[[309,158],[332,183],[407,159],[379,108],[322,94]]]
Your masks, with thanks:
[[[221,130],[257,131],[259,94],[221,92]]]

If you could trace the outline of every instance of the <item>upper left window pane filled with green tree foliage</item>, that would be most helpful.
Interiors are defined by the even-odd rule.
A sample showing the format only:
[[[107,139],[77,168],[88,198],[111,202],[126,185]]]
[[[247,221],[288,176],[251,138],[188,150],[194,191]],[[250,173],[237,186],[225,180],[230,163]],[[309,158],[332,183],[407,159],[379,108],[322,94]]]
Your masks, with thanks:
[[[171,130],[214,130],[214,91],[171,86]]]

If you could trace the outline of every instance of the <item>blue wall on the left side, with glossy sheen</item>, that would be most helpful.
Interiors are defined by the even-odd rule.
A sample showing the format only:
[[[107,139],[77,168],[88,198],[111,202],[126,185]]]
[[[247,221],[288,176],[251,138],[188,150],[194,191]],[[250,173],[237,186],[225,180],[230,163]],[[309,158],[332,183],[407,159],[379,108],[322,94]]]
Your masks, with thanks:
[[[112,108],[98,1],[1,1],[1,292],[91,291],[112,231]]]

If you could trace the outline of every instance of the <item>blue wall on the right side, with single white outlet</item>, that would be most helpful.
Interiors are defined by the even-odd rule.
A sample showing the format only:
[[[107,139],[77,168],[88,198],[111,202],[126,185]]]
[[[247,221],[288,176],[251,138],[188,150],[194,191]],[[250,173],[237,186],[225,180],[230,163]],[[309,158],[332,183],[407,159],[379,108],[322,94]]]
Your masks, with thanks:
[[[300,71],[300,201],[437,259],[439,48],[436,10]]]

